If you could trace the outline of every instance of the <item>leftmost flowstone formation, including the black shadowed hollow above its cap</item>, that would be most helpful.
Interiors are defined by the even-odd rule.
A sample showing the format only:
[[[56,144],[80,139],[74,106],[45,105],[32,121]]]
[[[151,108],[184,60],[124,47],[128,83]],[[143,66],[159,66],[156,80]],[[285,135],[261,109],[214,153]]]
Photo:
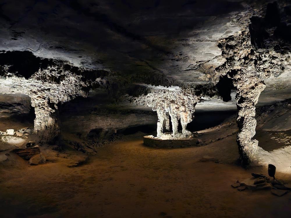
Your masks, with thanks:
[[[19,55],[19,52],[16,53]],[[22,60],[24,63],[14,61],[13,52],[0,54],[0,92],[28,95],[36,115],[34,132],[42,140],[49,141],[60,132],[57,123],[58,104],[77,96],[86,97],[93,84],[102,82],[101,73],[91,71],[93,76],[86,77],[86,69],[74,67],[69,62],[40,59],[27,54],[24,57],[28,60]],[[32,61],[34,63],[25,65]]]

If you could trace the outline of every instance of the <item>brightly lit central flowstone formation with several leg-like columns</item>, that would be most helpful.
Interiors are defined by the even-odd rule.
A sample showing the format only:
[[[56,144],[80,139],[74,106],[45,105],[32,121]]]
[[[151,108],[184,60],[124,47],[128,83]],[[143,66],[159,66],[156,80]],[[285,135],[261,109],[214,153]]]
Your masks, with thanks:
[[[193,90],[183,90],[179,87],[153,87],[148,94],[142,94],[132,101],[157,111],[157,138],[184,139],[192,135],[186,127],[193,120],[195,105],[198,101]],[[173,133],[165,135],[165,131],[170,131],[170,118]],[[182,133],[178,131],[179,122]]]

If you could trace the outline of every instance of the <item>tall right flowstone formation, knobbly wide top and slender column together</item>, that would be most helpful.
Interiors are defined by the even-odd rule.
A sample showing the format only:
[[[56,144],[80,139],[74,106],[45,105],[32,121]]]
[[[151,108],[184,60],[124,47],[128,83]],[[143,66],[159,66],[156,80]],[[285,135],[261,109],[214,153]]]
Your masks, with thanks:
[[[268,17],[268,12],[266,17]],[[240,157],[245,165],[256,162],[260,158],[258,141],[253,137],[257,123],[255,105],[258,103],[260,93],[266,87],[264,79],[279,76],[284,72],[284,66],[290,62],[290,52],[278,52],[278,42],[282,43],[282,40],[272,41],[270,39],[274,36],[270,34],[264,43],[258,32],[258,29],[262,31],[264,26],[258,27],[252,23],[258,19],[264,18],[246,17],[242,19],[240,21],[242,31],[222,39],[218,43],[226,62],[217,67],[216,72],[219,72],[220,75],[227,75],[237,92],[237,124],[239,127],[237,143]],[[260,44],[256,41],[258,37],[262,39]]]

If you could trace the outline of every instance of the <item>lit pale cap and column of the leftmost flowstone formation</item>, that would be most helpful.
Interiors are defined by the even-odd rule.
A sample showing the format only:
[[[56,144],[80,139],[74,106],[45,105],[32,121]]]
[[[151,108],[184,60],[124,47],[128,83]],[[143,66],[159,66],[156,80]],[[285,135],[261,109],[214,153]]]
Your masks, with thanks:
[[[43,61],[43,60],[39,60]],[[48,60],[47,60],[48,61]],[[40,67],[30,75],[19,75],[7,71],[0,77],[0,92],[3,94],[21,93],[31,98],[35,108],[34,132],[42,140],[49,141],[59,132],[57,124],[58,103],[70,101],[77,96],[86,97],[92,83],[98,83],[98,78],[86,79],[78,75],[84,69],[75,69],[68,62],[54,62]]]

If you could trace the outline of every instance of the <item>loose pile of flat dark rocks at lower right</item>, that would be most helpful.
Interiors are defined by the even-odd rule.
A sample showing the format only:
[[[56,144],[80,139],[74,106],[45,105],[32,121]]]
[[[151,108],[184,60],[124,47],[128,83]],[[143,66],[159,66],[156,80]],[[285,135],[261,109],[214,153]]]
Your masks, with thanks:
[[[242,191],[244,189],[249,189],[252,191],[256,190],[271,190],[271,193],[277,196],[282,196],[291,190],[290,184],[284,184],[277,179],[270,179],[263,174],[251,173],[252,177],[247,178],[244,181],[237,181],[231,184],[233,188]]]

